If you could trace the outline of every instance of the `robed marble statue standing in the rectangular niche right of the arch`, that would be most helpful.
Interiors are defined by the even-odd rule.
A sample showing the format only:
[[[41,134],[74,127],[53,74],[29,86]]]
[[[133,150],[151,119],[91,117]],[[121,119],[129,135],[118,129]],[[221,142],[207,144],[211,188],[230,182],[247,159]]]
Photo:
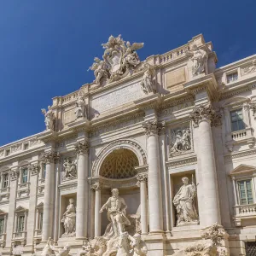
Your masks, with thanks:
[[[173,204],[177,210],[177,226],[183,224],[198,224],[199,218],[195,209],[196,187],[193,182],[189,184],[189,178],[183,177],[183,186],[174,196]]]

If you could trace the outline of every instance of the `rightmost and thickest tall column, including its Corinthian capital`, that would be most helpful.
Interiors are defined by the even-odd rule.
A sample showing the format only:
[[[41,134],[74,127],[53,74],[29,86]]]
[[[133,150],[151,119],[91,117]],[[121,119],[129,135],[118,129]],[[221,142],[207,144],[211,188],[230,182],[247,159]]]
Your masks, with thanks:
[[[200,220],[202,225],[210,226],[220,223],[218,204],[218,184],[212,143],[212,125],[219,125],[220,114],[212,105],[199,106],[194,109],[190,118],[199,127],[199,159],[201,160],[201,185],[203,189],[203,207]]]

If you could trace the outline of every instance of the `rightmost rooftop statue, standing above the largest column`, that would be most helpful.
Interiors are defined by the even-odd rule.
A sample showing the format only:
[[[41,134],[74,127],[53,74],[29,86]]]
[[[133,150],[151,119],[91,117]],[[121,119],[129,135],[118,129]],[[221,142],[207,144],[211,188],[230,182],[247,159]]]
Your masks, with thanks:
[[[193,76],[206,73],[207,52],[205,50],[199,49],[196,44],[193,44],[192,51],[189,50],[186,54],[190,56],[190,60],[193,62]]]

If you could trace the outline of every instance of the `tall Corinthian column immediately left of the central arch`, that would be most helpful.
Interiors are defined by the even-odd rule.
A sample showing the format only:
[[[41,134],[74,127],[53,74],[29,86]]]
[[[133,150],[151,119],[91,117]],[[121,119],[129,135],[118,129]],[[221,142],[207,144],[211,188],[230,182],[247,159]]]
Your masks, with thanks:
[[[88,218],[88,143],[80,142],[76,146],[78,154],[78,192],[77,192],[77,220],[76,239],[87,236]]]

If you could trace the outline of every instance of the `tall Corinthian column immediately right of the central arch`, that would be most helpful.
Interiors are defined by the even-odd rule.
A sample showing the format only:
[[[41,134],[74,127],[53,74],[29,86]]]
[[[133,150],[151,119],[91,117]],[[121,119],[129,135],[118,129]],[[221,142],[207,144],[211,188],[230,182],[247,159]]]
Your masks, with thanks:
[[[143,124],[148,138],[148,213],[149,232],[163,232],[162,192],[158,134],[163,125],[156,120]]]

